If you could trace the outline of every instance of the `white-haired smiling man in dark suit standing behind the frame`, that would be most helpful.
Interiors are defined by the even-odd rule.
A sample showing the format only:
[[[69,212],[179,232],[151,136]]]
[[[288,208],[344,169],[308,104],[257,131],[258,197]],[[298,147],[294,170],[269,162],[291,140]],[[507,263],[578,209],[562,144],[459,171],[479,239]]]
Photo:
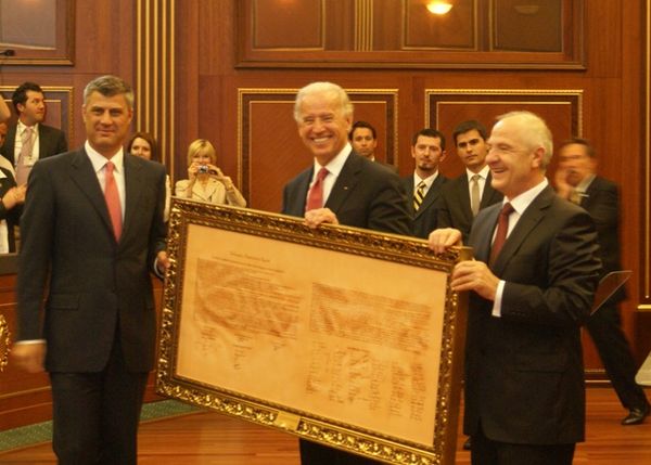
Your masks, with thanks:
[[[288,183],[282,212],[323,222],[409,234],[409,214],[397,175],[357,155],[348,143],[353,104],[337,85],[312,82],[294,105],[298,135],[312,166]],[[303,465],[374,464],[375,461],[301,440]]]

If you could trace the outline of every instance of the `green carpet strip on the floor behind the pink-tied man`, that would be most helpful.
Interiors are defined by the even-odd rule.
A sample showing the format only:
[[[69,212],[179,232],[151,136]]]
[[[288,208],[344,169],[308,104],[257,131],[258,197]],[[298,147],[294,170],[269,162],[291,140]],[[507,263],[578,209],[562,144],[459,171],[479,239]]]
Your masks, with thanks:
[[[201,409],[176,400],[162,400],[145,403],[140,413],[141,422],[161,419],[167,416],[183,415]],[[52,440],[52,422],[36,423],[29,426],[0,431],[0,452],[11,449],[49,442]]]

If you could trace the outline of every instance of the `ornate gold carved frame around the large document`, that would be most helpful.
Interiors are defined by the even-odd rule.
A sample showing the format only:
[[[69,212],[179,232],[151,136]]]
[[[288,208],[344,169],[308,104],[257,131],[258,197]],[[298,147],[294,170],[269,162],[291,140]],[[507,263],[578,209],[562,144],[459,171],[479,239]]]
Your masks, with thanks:
[[[194,233],[189,234],[189,230],[195,232],[196,227],[200,227],[202,234],[208,234],[207,237],[210,240],[214,237],[210,235],[213,231],[217,234],[215,237],[219,237],[219,234],[234,233],[237,237],[246,236],[246,241],[259,240],[268,244],[267,241],[271,240],[282,243],[283,247],[296,247],[297,250],[305,250],[305,246],[308,246],[308,250],[316,247],[324,249],[328,254],[344,253],[346,259],[350,257],[352,260],[361,261],[368,258],[384,260],[391,262],[392,267],[397,263],[396,266],[399,266],[405,273],[430,273],[427,276],[433,276],[432,270],[443,272],[444,275],[439,279],[444,277],[445,289],[438,288],[437,292],[443,296],[445,308],[432,309],[432,314],[436,315],[435,319],[438,319],[442,328],[442,334],[436,335],[441,339],[441,347],[437,349],[439,360],[437,361],[438,377],[435,380],[436,399],[432,402],[435,404],[435,418],[432,422],[435,426],[432,434],[433,444],[423,447],[413,441],[350,425],[339,419],[339,413],[337,417],[331,415],[324,417],[297,410],[292,405],[281,405],[267,399],[259,399],[247,392],[235,392],[222,386],[179,375],[177,372],[179,351],[184,350],[186,357],[191,353],[192,359],[195,360],[192,347],[189,349],[187,344],[189,341],[181,340],[179,337],[179,326],[184,310],[181,308],[183,294],[190,292],[189,287],[184,287],[187,250],[196,247],[196,244],[191,244],[196,241],[196,236],[192,235]],[[252,240],[251,236],[254,238]],[[167,250],[173,264],[167,272],[164,290],[156,379],[158,393],[385,463],[412,465],[455,463],[467,298],[465,295],[451,292],[449,273],[456,262],[470,258],[470,249],[459,248],[445,255],[434,255],[424,241],[410,237],[345,227],[328,225],[310,230],[297,218],[174,198]],[[250,250],[242,250],[244,256],[248,253]],[[365,271],[368,270],[359,270],[361,273]],[[369,280],[372,279],[370,274]],[[399,280],[396,280],[396,283],[398,282]],[[413,292],[413,289],[407,290]],[[433,290],[419,288],[418,292]],[[436,313],[436,310],[441,312]],[[217,363],[226,364],[221,360]],[[409,363],[409,360],[405,363]],[[288,383],[291,382],[292,379],[288,379]]]

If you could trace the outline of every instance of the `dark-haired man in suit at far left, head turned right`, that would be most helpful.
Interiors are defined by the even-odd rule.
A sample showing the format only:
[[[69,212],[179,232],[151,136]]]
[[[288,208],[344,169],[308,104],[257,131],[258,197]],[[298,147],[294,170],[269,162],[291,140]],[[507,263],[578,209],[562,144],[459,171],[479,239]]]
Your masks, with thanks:
[[[11,98],[18,121],[9,128],[2,156],[16,168],[16,182],[27,182],[36,162],[67,151],[65,134],[42,121],[46,118],[46,98],[37,83],[24,82]]]

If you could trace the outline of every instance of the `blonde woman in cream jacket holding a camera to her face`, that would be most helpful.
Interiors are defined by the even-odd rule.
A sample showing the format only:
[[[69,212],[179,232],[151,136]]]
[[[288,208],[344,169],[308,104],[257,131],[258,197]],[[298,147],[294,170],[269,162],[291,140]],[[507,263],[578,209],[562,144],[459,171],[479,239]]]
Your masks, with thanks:
[[[176,195],[212,204],[245,207],[246,201],[216,163],[217,153],[210,142],[205,139],[192,142],[188,147],[188,179],[176,183]]]

